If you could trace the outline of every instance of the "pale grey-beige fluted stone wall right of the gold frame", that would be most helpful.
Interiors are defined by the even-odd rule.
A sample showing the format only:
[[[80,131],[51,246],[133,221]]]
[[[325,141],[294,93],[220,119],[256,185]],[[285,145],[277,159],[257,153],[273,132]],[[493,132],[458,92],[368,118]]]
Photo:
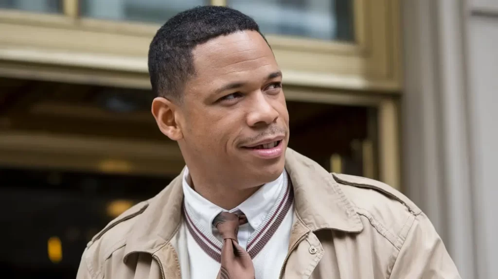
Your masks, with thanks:
[[[462,278],[498,278],[498,0],[403,0],[403,178]]]

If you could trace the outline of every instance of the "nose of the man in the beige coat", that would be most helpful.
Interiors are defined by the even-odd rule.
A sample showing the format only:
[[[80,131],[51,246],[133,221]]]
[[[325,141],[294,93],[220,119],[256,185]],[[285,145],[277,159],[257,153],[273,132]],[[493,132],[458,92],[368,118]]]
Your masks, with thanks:
[[[266,126],[278,118],[278,111],[273,107],[271,100],[268,100],[268,97],[262,92],[255,94],[250,107],[247,122],[251,127]]]

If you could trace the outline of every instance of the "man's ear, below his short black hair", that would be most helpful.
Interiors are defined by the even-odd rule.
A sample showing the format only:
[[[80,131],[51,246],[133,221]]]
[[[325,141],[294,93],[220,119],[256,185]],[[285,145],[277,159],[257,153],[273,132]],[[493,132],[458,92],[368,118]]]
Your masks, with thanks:
[[[152,115],[156,119],[159,130],[174,141],[183,138],[179,119],[175,113],[176,109],[178,106],[164,97],[156,97],[152,101]]]

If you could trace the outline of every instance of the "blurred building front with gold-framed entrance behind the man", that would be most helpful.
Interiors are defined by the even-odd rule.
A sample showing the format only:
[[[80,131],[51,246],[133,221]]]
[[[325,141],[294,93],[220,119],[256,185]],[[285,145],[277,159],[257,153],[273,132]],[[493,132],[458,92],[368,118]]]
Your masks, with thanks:
[[[2,278],[74,278],[91,237],[181,171],[148,44],[210,4],[267,36],[290,147],[399,189],[462,278],[498,278],[498,0],[0,0]]]

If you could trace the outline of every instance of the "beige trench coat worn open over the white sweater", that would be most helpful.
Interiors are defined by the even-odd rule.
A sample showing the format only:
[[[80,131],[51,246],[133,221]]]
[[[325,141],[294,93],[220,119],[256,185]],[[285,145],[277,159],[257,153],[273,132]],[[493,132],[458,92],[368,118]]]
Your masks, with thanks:
[[[458,271],[427,216],[377,181],[330,174],[288,149],[294,225],[285,279],[457,279]],[[188,270],[182,175],[136,204],[88,243],[77,279],[179,279]],[[182,258],[180,258],[182,257]]]

